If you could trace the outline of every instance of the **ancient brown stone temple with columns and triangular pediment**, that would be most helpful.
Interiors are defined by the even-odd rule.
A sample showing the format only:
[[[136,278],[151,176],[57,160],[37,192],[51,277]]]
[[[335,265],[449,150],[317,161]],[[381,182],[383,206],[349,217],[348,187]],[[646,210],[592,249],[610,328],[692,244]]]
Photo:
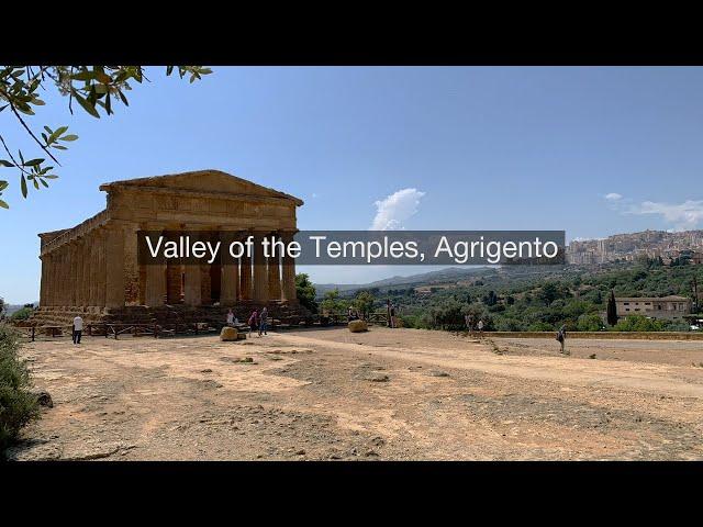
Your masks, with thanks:
[[[298,306],[294,260],[253,258],[212,265],[143,265],[137,233],[211,233],[225,239],[297,232],[301,200],[219,170],[105,183],[107,208],[72,228],[40,234],[42,281],[37,318],[65,323],[75,312],[91,319],[149,322],[165,311],[220,317],[235,307],[279,313]],[[203,311],[204,310],[204,311]]]

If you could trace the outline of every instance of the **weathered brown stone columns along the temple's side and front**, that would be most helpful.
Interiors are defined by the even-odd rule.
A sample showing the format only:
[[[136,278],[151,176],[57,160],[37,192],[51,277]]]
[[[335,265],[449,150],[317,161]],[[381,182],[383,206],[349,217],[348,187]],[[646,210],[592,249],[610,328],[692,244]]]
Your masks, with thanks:
[[[134,225],[108,224],[43,255],[40,304],[120,307],[142,301],[149,306],[164,305],[168,299],[167,268],[144,266],[145,281],[141,283],[136,233]],[[235,239],[232,236],[230,239]],[[203,301],[201,267],[185,266],[187,304],[200,305]],[[221,270],[220,303],[223,305],[241,300],[295,300],[294,259],[265,258],[260,238],[255,238],[253,259],[246,256],[239,261],[224,259]],[[144,291],[135,294],[141,288]]]

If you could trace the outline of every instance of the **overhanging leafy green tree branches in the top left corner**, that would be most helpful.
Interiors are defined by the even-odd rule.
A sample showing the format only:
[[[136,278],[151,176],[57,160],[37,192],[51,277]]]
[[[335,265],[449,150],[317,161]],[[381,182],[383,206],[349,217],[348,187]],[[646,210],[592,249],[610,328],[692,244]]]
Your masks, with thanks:
[[[178,68],[181,79],[189,76],[190,82],[212,72],[203,66],[167,66],[166,75],[170,76],[174,68]],[[67,144],[78,138],[68,133],[67,125],[54,128],[45,125],[40,133],[30,126],[25,116],[34,115],[38,106],[46,104],[40,93],[55,90],[68,98],[71,114],[75,106],[80,106],[100,119],[101,109],[105,115],[112,115],[115,104],[127,106],[124,92],[132,89],[132,83],[144,80],[149,79],[144,75],[143,66],[0,66],[0,113],[13,117],[40,152],[25,156],[22,149],[11,149],[0,134],[0,144],[8,155],[7,159],[0,159],[0,167],[18,171],[22,197],[26,198],[30,184],[40,190],[58,177],[54,171],[55,165],[60,166],[57,150],[66,150]],[[0,197],[9,184],[7,180],[0,180]],[[1,198],[0,208],[8,209]]]

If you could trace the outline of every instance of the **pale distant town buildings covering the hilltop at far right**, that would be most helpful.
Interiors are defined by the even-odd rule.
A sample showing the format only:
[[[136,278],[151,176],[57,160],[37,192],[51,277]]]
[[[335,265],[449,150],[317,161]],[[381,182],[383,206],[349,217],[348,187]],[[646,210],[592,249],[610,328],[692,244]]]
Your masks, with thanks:
[[[661,258],[666,265],[677,259],[703,264],[703,231],[644,231],[615,234],[601,239],[573,240],[566,250],[569,264],[588,265]]]

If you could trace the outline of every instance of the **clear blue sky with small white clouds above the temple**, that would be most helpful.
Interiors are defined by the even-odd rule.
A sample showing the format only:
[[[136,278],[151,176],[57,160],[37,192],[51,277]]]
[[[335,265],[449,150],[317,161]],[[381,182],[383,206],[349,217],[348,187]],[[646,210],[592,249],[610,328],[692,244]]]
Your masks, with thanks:
[[[36,234],[102,210],[100,183],[203,168],[302,198],[301,229],[369,228],[379,206],[408,229],[566,229],[572,239],[703,227],[702,68],[213,70],[189,85],[150,68],[130,108],[101,120],[71,116],[67,99],[40,109],[35,128],[69,124],[80,139],[60,157],[62,178],[26,201],[0,168],[12,182],[0,296],[38,298]],[[35,152],[9,112],[0,130]],[[305,269],[319,282],[416,270]]]

